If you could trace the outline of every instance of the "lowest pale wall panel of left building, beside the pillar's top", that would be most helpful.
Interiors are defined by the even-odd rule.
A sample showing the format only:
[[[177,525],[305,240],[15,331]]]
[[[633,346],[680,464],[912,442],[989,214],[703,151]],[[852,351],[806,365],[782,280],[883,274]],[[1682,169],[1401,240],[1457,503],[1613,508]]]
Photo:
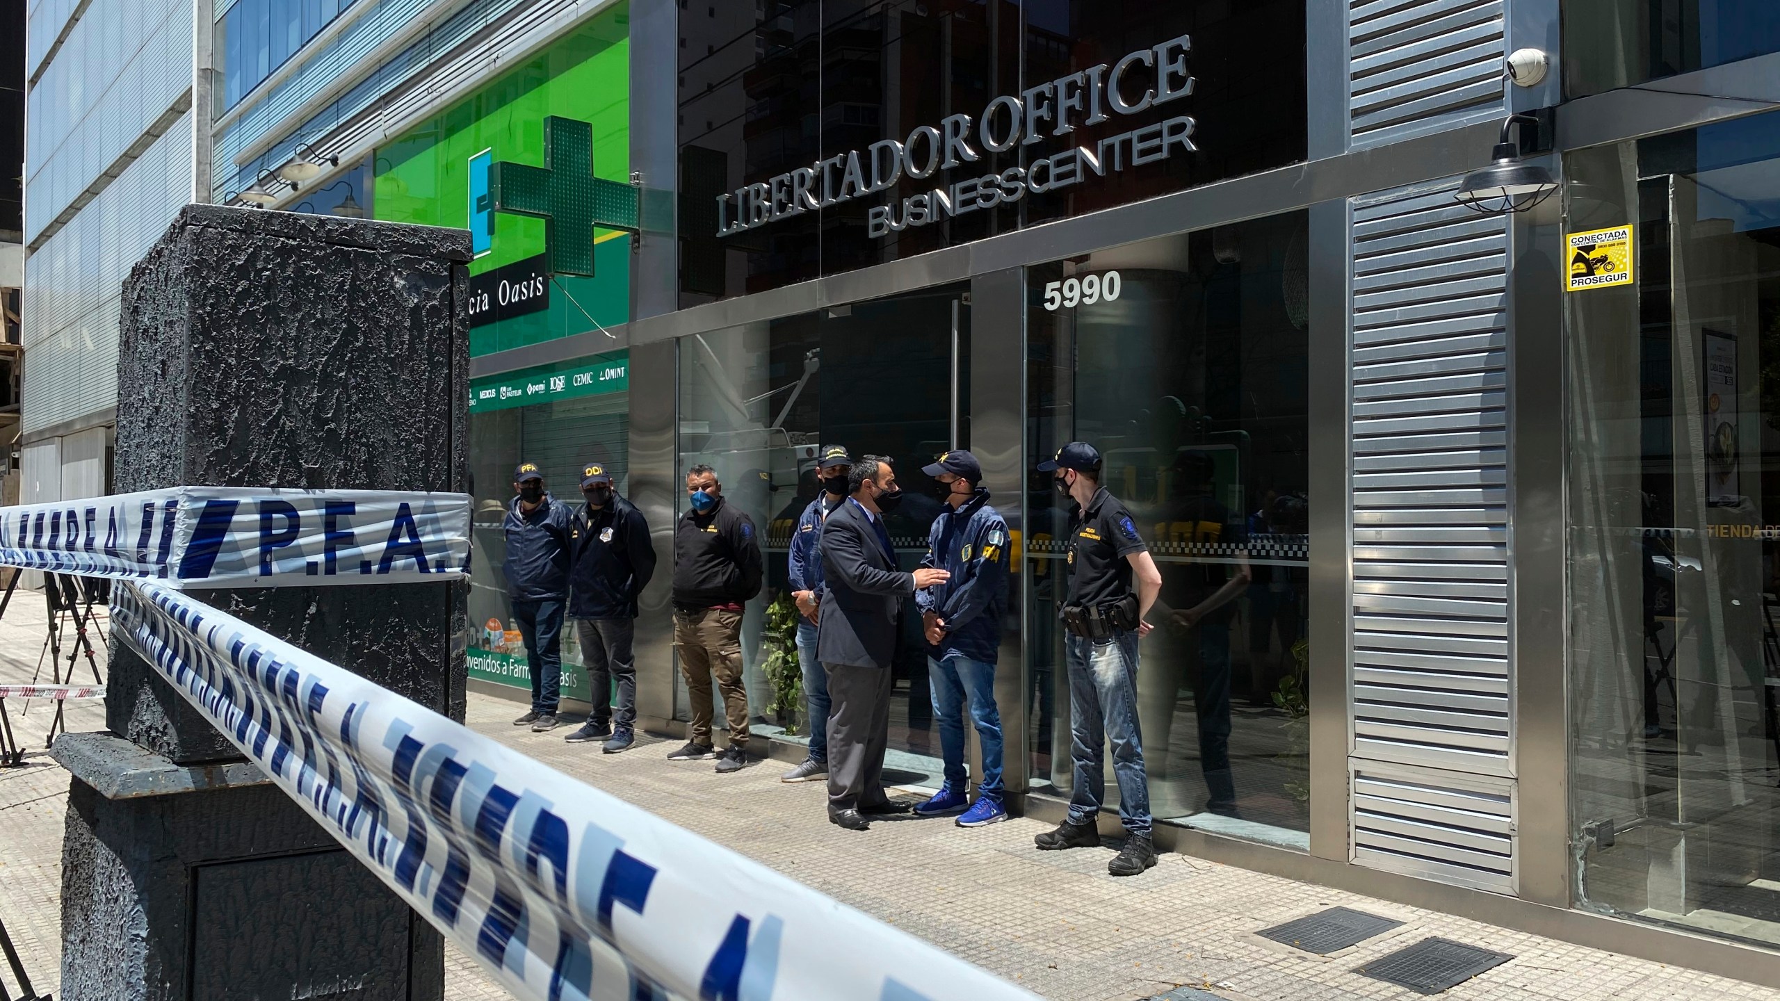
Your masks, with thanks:
[[[119,290],[190,194],[190,146],[187,114],[25,262],[25,435],[117,404]]]

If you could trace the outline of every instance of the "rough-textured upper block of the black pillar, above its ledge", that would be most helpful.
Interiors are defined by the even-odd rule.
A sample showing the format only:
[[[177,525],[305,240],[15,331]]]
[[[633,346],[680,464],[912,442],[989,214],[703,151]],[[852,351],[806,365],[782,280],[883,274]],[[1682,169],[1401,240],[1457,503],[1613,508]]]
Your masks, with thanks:
[[[117,490],[465,490],[468,260],[463,230],[185,207],[123,289]],[[201,593],[456,720],[463,595]],[[178,764],[239,757],[146,663],[114,654],[107,727]]]

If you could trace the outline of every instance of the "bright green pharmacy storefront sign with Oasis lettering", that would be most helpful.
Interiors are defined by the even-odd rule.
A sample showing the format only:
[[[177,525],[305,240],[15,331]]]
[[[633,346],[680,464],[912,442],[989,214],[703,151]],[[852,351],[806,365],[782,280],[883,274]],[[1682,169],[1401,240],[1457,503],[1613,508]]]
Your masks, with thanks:
[[[472,230],[472,356],[630,319],[632,237],[602,226],[635,224],[628,30],[616,4],[377,148],[377,219]]]

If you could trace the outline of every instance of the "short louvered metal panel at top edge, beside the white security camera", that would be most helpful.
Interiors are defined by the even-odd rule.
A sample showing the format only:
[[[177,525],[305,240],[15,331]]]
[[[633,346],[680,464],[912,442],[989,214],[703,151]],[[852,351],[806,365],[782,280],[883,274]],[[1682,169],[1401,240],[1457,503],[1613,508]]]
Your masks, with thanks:
[[[1502,0],[1351,0],[1351,144],[1501,116],[1504,45]]]

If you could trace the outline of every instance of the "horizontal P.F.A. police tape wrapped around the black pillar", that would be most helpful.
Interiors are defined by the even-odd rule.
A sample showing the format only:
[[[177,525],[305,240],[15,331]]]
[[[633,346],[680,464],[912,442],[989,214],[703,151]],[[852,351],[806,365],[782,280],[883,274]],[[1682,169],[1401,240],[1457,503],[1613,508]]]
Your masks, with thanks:
[[[470,497],[174,486],[0,508],[0,565],[176,588],[466,577]]]

